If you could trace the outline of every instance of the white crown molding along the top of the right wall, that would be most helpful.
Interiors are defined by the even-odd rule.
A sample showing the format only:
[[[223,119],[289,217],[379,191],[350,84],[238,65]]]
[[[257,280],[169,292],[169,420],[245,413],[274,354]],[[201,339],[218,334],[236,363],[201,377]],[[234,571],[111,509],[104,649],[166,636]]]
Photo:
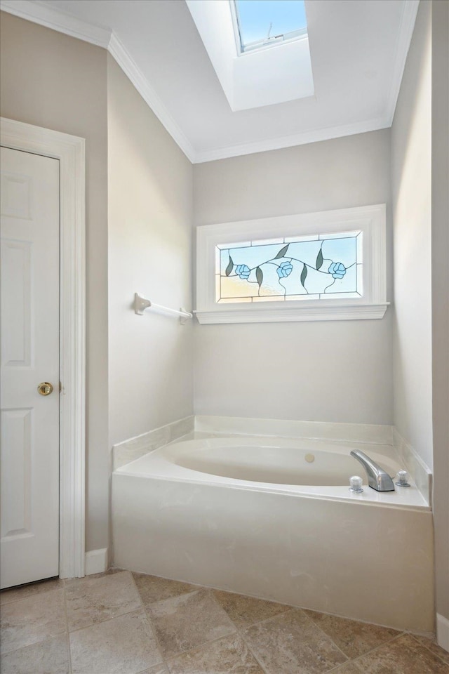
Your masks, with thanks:
[[[416,15],[420,0],[407,0],[402,5],[401,25],[399,27],[398,39],[396,40],[396,49],[394,53],[394,66],[391,74],[391,84],[387,96],[387,105],[385,117],[388,120],[388,126],[393,124],[394,112],[398,95],[401,89],[402,77],[406,67],[406,60],[410,42],[412,40],[413,29],[415,28]]]

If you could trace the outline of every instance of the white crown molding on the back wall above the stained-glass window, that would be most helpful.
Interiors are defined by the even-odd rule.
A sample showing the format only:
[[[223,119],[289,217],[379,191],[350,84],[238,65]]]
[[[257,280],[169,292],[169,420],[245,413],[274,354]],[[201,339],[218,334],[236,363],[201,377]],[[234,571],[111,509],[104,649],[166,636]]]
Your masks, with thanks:
[[[355,136],[357,133],[378,131],[381,128],[389,128],[390,126],[391,123],[387,117],[380,117],[377,119],[369,119],[368,121],[354,122],[354,124],[328,126],[326,128],[314,129],[313,131],[304,131],[304,133],[296,133],[293,136],[282,136],[281,138],[272,138],[269,140],[255,140],[253,143],[242,143],[241,145],[220,147],[217,148],[217,150],[196,152],[194,164],[203,164],[206,161],[215,161],[216,159],[240,157],[243,154],[255,154],[257,152],[268,152],[269,150],[282,150],[285,147],[294,147],[295,145],[318,143],[320,140],[332,140],[333,138],[342,138],[343,136]]]

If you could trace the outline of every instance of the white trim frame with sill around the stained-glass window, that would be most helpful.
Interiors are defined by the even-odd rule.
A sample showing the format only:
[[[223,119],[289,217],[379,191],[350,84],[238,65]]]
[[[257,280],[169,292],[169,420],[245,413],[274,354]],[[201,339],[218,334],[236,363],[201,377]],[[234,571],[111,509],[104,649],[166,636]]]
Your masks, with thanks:
[[[199,323],[381,319],[386,299],[385,204],[196,227],[196,318]],[[363,232],[363,297],[243,303],[215,301],[215,246],[275,237]]]

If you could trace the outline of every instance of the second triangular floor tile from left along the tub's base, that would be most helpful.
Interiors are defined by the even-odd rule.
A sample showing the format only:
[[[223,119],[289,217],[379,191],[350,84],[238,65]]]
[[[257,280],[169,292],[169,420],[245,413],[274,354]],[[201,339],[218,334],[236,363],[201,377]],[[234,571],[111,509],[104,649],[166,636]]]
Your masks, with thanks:
[[[267,602],[263,599],[235,595],[222,590],[213,590],[213,594],[220,606],[225,609],[229,618],[239,628],[249,627],[254,623],[267,618],[273,618],[281,613],[290,611],[291,607],[286,604]]]

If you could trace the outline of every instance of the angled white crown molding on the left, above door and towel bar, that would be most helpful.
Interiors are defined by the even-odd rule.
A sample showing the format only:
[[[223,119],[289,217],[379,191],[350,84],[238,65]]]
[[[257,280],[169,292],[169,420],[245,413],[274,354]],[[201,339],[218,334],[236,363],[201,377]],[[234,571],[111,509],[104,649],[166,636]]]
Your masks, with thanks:
[[[27,21],[39,23],[46,28],[57,30],[70,37],[76,37],[79,40],[107,49],[145,100],[145,103],[152,109],[162,126],[166,128],[166,131],[193,164],[195,153],[192,145],[114,31],[81,21],[65,12],[31,0],[1,0],[0,9]]]

